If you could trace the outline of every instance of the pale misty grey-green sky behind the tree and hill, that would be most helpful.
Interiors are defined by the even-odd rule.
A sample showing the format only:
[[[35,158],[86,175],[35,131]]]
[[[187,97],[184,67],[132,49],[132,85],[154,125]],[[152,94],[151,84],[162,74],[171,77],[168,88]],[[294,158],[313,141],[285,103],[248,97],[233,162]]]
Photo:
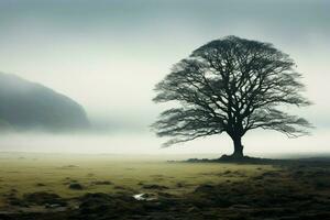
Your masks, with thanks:
[[[92,134],[11,134],[0,151],[230,153],[226,135],[160,150],[148,125],[164,107],[153,87],[173,64],[227,35],[273,43],[304,74],[315,103],[294,110],[317,128],[288,140],[252,132],[246,152],[329,152],[330,1],[0,0],[0,72],[16,74],[82,105]],[[107,131],[103,131],[103,130]]]

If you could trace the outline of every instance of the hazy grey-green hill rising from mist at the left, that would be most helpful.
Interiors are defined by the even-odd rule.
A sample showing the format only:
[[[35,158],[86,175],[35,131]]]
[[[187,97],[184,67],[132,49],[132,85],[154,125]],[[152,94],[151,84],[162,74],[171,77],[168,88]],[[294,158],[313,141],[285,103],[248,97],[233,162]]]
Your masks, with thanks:
[[[0,73],[0,128],[14,130],[80,130],[89,121],[70,98],[15,75]]]

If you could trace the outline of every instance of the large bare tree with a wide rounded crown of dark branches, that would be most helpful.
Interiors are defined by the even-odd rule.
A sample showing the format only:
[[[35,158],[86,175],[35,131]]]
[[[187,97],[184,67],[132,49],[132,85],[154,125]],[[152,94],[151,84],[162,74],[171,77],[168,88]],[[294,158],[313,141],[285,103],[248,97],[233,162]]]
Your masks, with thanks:
[[[243,156],[242,136],[253,129],[288,136],[306,134],[310,124],[278,107],[305,107],[301,75],[294,61],[270,43],[228,36],[212,41],[176,65],[156,85],[155,102],[178,101],[153,124],[164,146],[228,133],[233,157]]]

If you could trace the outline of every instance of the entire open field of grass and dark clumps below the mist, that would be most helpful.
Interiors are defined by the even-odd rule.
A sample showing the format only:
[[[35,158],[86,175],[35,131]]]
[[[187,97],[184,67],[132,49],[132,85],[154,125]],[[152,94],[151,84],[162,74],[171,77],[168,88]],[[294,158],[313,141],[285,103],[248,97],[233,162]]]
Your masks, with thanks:
[[[329,160],[229,164],[110,155],[0,157],[0,219],[317,219],[329,218]]]

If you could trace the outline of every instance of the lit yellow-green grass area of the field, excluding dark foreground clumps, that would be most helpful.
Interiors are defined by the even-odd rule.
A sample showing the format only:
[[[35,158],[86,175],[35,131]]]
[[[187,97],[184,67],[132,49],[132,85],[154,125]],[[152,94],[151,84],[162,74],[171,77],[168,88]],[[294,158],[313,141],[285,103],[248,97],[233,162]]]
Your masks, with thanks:
[[[160,158],[116,157],[102,155],[10,155],[0,157],[0,199],[16,190],[16,196],[35,191],[55,193],[64,198],[86,193],[151,191],[143,185],[166,186],[165,193],[185,194],[201,184],[243,182],[270,165],[234,165],[216,163],[168,163]],[[111,185],[95,185],[95,182]],[[82,190],[68,188],[77,182]],[[42,184],[44,186],[37,186]]]

